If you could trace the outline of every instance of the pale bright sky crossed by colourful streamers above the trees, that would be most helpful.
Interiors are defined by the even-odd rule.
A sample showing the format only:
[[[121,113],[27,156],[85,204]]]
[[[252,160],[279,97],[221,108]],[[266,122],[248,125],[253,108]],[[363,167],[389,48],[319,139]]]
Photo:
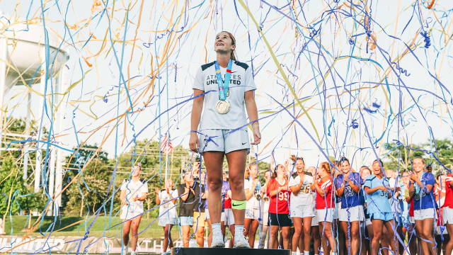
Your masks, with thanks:
[[[195,73],[216,59],[222,30],[235,35],[238,59],[251,66],[258,88],[258,160],[282,163],[297,154],[316,166],[344,155],[358,168],[386,159],[387,142],[452,136],[452,1],[430,9],[426,1],[244,2],[264,38],[239,0],[143,1],[142,8],[127,0],[13,0],[1,1],[0,10],[10,21],[38,22],[45,10],[47,30],[64,38],[66,84],[80,81],[58,107],[64,131],[53,131],[67,149],[104,142],[115,158],[130,151],[134,137],[159,140],[166,132],[173,147],[188,148]],[[27,91],[8,91],[8,116],[26,115]],[[32,95],[38,119],[40,96]],[[131,101],[134,113],[117,123]],[[49,115],[42,114],[46,127]],[[425,149],[435,152],[431,144]]]

